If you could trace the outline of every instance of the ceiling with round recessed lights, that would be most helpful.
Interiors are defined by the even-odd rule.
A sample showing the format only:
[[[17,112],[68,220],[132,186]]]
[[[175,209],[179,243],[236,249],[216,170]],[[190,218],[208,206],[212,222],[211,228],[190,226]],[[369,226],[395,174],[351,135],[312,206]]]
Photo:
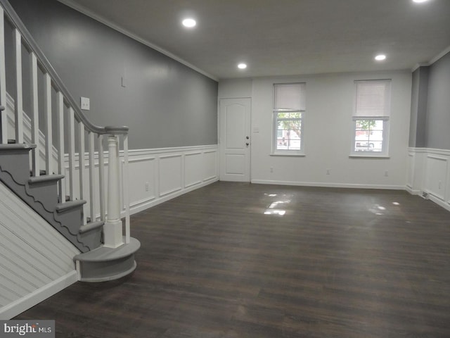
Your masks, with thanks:
[[[450,46],[450,0],[60,2],[216,80],[412,69]],[[380,53],[387,59],[374,61]]]

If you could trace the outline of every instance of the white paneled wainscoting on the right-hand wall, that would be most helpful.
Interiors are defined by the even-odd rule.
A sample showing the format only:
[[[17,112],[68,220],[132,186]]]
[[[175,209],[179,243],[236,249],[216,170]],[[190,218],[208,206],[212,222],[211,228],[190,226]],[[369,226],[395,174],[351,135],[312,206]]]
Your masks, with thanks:
[[[450,150],[409,148],[406,189],[450,211]]]

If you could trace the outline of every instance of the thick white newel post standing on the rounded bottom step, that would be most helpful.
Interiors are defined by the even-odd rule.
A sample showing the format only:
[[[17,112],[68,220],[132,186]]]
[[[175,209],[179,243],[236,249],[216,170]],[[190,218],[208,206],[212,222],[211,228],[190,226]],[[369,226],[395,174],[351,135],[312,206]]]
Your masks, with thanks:
[[[105,246],[117,248],[124,244],[120,219],[119,140],[108,136],[108,215],[103,226]]]

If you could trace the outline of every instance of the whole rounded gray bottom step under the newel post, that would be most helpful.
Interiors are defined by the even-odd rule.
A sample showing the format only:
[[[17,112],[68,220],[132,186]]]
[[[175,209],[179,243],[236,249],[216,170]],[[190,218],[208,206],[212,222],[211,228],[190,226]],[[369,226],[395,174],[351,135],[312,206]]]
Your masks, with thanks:
[[[106,282],[129,275],[136,269],[134,253],[141,243],[131,237],[129,244],[117,248],[101,246],[74,257],[81,282]]]

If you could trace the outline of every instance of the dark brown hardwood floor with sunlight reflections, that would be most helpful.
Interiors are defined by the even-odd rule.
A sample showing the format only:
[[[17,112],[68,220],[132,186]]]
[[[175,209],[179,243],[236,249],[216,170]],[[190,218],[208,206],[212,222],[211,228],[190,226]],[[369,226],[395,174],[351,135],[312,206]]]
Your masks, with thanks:
[[[450,213],[407,192],[217,182],[131,222],[132,275],[15,319],[56,337],[450,337]]]

